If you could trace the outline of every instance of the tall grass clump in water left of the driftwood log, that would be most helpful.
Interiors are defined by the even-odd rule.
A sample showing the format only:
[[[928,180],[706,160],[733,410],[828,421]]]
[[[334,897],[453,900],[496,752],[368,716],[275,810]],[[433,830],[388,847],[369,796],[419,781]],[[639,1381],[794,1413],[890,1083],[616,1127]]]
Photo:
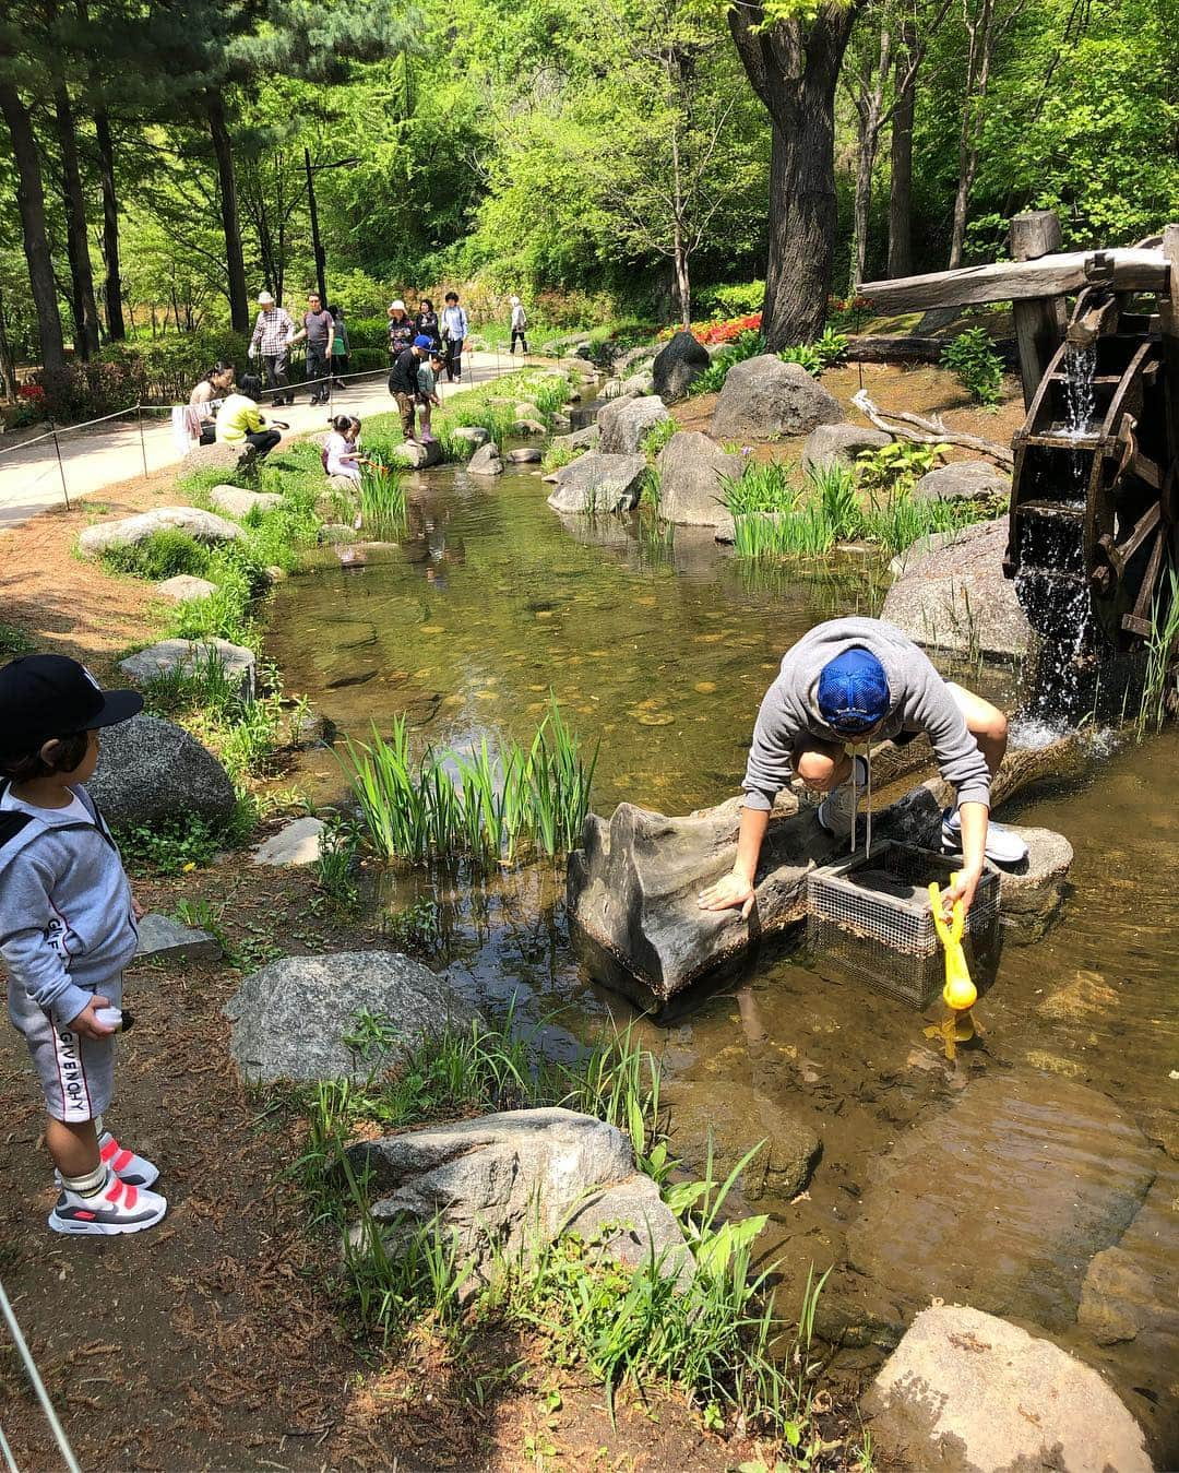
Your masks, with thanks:
[[[520,850],[574,848],[589,813],[598,748],[589,763],[556,701],[528,747],[484,738],[467,753],[427,750],[414,762],[405,717],[386,739],[344,741],[341,763],[368,840],[386,859],[421,865],[472,857],[509,862]]]

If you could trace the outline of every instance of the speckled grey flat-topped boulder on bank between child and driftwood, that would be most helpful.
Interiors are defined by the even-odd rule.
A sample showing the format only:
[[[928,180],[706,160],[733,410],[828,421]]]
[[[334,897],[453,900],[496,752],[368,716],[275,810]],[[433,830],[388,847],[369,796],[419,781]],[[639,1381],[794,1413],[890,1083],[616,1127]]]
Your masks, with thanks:
[[[422,1038],[478,1018],[445,977],[399,952],[283,957],[252,972],[225,1013],[249,1083],[367,1078]],[[387,1024],[368,1047],[344,1041],[361,1015]]]

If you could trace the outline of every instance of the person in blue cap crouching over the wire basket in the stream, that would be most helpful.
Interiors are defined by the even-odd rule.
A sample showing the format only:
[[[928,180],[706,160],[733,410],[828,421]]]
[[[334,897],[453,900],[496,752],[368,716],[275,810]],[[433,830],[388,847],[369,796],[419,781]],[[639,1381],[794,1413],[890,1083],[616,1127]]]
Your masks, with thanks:
[[[964,900],[969,909],[985,857],[1013,865],[1027,853],[1019,835],[989,822],[991,779],[1007,751],[1007,717],[943,681],[929,657],[883,619],[832,619],[786,651],[754,728],[737,857],[729,875],[701,891],[701,906],[740,907],[748,919],[770,809],[792,775],[826,794],[820,825],[855,846],[861,794],[871,798],[870,744],[905,745],[921,732],[957,800],[942,816],[942,847],[963,856],[948,904]]]

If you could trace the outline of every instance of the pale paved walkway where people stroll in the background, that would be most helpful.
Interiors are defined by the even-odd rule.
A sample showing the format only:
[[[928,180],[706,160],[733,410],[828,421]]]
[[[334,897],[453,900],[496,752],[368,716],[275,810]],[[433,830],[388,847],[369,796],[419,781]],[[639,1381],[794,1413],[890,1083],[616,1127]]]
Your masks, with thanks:
[[[471,354],[464,362],[464,386],[486,383],[502,373],[523,367],[524,359],[514,361],[508,354]],[[386,377],[380,373],[374,379],[350,382],[333,398],[330,412],[356,414],[365,418],[369,414],[389,411],[393,408],[393,401],[389,398]],[[443,383],[443,404],[456,390],[458,384]],[[312,409],[306,402],[306,392],[300,398],[300,404],[286,405],[272,417],[286,420],[291,435],[322,430],[327,412],[321,408]],[[265,405],[262,408],[266,409]],[[52,439],[10,451],[4,451],[0,440],[0,530],[18,527],[47,507],[60,507],[66,492],[74,501],[79,496],[93,496],[134,476],[143,476],[144,461],[147,473],[152,474],[181,460],[166,409],[144,409],[141,437],[137,415],[131,411],[127,418],[112,420],[93,430],[59,430],[57,443],[60,465]]]

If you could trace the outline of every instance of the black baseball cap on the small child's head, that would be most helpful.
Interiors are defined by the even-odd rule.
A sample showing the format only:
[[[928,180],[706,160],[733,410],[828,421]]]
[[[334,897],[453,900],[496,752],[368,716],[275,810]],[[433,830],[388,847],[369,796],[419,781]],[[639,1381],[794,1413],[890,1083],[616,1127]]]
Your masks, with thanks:
[[[115,726],[143,710],[138,691],[105,691],[63,654],[22,654],[0,669],[0,756],[26,757],[54,736]]]

